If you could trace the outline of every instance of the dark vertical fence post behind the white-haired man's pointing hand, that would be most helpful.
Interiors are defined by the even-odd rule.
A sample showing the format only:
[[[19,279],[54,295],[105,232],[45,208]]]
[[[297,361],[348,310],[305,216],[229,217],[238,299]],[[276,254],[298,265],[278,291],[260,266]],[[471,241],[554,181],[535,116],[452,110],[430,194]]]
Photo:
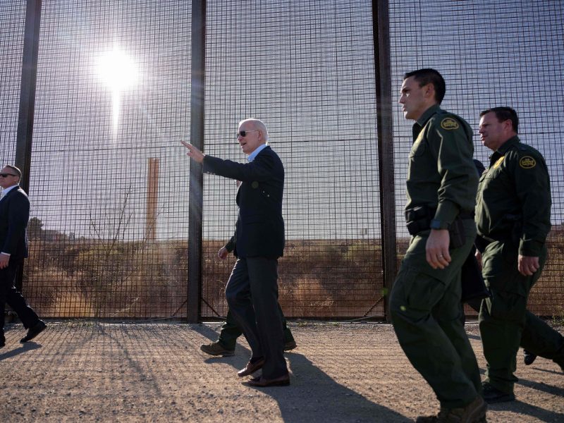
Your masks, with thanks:
[[[206,1],[192,0],[192,70],[190,92],[190,142],[204,149],[204,96],[206,65]],[[188,221],[188,301],[190,323],[200,319],[202,297],[202,164],[190,161],[190,216]]]

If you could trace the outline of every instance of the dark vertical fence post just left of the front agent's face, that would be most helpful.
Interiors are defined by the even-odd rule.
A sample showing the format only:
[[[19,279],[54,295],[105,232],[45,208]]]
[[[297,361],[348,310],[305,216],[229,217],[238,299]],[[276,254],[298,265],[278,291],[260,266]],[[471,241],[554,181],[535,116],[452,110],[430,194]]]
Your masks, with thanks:
[[[393,166],[393,121],[390,72],[390,20],[388,0],[372,1],[374,36],[374,70],[376,73],[376,119],[378,124],[378,160],[380,180],[380,214],[382,238],[382,267],[386,302],[384,314],[389,321],[388,301],[396,278],[398,253],[396,250],[396,195]]]

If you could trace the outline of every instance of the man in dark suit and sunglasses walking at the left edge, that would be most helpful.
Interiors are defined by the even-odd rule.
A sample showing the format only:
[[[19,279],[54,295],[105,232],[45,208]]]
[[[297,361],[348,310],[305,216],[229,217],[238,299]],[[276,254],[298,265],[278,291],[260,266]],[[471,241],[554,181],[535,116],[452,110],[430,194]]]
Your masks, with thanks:
[[[35,338],[45,329],[44,321],[27,305],[16,290],[16,274],[27,257],[27,236],[25,228],[30,218],[30,200],[20,188],[22,173],[16,166],[4,166],[0,171],[0,186],[4,196],[0,199],[0,348],[6,345],[4,337],[4,307],[6,302],[27,329],[27,335],[20,342]]]

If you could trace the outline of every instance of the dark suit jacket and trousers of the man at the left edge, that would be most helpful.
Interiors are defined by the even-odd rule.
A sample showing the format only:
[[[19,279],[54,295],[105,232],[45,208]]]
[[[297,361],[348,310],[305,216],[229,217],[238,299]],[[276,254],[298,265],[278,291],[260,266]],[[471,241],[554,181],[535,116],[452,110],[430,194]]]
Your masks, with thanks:
[[[25,192],[19,188],[12,188],[0,200],[0,252],[10,254],[8,266],[0,269],[0,330],[4,330],[4,309],[6,302],[25,328],[37,324],[39,317],[27,305],[23,296],[16,290],[14,281],[18,269],[27,257],[27,221],[30,218],[30,200]]]

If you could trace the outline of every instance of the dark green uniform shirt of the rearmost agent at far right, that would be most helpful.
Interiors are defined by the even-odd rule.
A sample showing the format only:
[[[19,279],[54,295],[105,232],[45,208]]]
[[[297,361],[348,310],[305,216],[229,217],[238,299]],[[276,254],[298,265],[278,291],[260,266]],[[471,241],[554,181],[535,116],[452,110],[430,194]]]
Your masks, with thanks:
[[[491,155],[480,178],[476,226],[479,235],[491,240],[519,238],[520,255],[538,257],[541,252],[551,230],[548,168],[542,155],[517,136]]]

